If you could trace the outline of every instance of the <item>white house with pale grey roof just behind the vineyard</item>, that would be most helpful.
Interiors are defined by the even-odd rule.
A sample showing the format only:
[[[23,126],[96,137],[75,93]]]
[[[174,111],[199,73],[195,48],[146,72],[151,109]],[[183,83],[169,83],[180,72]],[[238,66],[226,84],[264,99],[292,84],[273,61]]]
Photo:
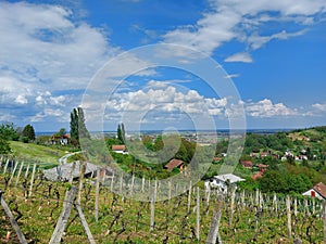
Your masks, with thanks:
[[[244,181],[244,179],[237,177],[233,174],[225,174],[225,175],[218,175],[214,176],[211,179],[205,180],[205,189],[217,189],[222,193],[227,193],[227,188],[229,187],[237,187],[236,183]]]

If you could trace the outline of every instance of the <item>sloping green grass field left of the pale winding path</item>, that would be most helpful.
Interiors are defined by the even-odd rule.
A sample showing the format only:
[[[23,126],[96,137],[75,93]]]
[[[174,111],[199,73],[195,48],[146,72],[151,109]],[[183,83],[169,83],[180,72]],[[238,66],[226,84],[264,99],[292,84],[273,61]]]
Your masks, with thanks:
[[[11,141],[10,146],[16,158],[50,164],[58,164],[59,158],[68,153],[67,151],[60,149],[60,146],[52,147],[17,141]]]

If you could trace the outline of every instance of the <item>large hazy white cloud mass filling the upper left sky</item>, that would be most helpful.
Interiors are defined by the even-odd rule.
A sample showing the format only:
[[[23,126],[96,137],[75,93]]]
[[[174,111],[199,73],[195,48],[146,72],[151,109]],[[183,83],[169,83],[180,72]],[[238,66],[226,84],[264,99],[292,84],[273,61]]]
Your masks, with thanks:
[[[16,120],[21,120],[16,116],[61,119],[63,112],[78,105],[95,73],[123,51],[110,44],[103,29],[74,14],[58,4],[0,2],[0,113]],[[124,65],[111,68],[112,76],[146,63],[137,56],[123,57]],[[138,75],[148,74],[154,73]]]

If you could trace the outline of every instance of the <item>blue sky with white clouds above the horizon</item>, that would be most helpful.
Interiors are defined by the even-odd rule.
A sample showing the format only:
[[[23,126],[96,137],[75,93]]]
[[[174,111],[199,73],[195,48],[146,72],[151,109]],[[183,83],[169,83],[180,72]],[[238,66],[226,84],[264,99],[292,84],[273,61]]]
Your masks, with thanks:
[[[0,0],[0,47],[17,127],[326,125],[326,0]]]

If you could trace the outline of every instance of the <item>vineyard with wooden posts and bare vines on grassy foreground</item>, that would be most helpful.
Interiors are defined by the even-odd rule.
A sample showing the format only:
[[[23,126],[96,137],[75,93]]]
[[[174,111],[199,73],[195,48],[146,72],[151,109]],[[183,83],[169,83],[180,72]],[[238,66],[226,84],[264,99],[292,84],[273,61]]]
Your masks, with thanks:
[[[127,183],[118,177],[82,170],[79,180],[51,182],[41,168],[1,157],[1,243],[325,243],[325,203],[315,198],[172,183],[172,195],[184,194],[156,202],[160,184],[136,181],[130,196],[153,194],[140,202],[114,193]]]

